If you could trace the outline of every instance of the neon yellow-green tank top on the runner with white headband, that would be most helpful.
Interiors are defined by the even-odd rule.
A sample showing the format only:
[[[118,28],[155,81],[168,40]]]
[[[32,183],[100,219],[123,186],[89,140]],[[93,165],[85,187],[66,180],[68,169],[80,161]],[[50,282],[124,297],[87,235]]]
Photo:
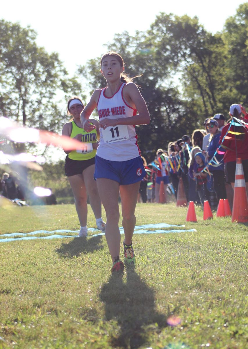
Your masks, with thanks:
[[[84,143],[96,143],[97,142],[97,130],[93,129],[93,131],[85,132],[82,127],[78,127],[75,121],[72,121],[72,133],[70,134],[70,138],[75,137],[77,134],[82,133],[82,142]],[[71,151],[68,154],[68,157],[72,160],[89,160],[96,156],[96,150],[93,149],[91,153],[80,154],[77,153],[76,150]]]

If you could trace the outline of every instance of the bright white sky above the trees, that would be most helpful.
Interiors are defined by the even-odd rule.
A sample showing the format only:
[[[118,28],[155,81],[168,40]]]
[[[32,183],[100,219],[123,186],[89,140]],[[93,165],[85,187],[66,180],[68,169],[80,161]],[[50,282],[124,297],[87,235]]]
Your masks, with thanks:
[[[113,41],[115,33],[145,31],[160,12],[197,16],[205,29],[216,33],[226,19],[236,13],[245,0],[153,0],[143,1],[91,0],[12,0],[2,1],[0,18],[30,25],[37,44],[48,53],[58,52],[70,75],[77,66],[106,52],[104,44]]]

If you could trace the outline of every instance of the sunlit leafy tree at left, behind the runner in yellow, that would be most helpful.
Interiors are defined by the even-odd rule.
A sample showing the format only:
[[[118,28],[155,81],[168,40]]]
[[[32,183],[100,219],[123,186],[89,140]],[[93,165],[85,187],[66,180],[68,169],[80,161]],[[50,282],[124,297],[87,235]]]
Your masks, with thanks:
[[[0,111],[23,126],[58,131],[68,94],[82,95],[75,77],[68,79],[57,53],[38,47],[36,32],[0,21]],[[61,96],[58,98],[58,96]]]

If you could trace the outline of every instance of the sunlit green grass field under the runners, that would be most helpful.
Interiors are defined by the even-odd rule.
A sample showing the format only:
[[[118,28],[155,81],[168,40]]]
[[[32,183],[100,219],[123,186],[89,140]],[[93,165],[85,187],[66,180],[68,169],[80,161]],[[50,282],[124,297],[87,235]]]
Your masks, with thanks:
[[[134,235],[123,277],[104,236],[0,243],[0,348],[247,348],[248,226],[186,213],[137,205],[137,225],[197,232]],[[0,208],[1,235],[78,228],[74,205]]]

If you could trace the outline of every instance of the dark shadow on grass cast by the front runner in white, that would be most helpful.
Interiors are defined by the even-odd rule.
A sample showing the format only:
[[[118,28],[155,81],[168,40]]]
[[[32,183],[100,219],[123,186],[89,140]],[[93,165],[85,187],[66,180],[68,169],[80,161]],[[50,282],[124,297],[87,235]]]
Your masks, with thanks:
[[[165,327],[166,317],[155,310],[154,291],[134,270],[128,270],[127,282],[123,278],[111,275],[100,299],[105,303],[107,320],[116,319],[120,326],[119,334],[111,339],[113,348],[136,349],[148,341],[145,327],[155,323]]]

